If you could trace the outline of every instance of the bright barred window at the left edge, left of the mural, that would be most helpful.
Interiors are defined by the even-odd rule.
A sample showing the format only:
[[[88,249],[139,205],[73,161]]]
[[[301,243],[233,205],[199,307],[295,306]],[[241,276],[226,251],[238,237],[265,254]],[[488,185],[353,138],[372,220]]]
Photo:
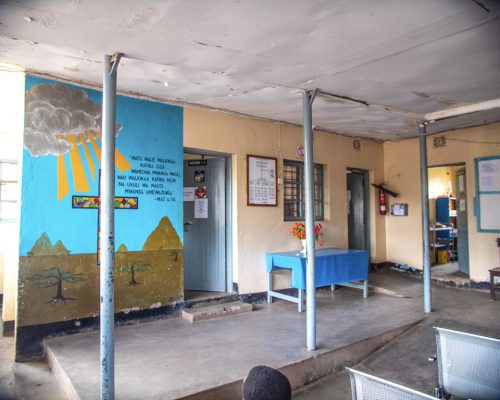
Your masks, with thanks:
[[[17,161],[0,160],[0,221],[17,218],[17,176]]]

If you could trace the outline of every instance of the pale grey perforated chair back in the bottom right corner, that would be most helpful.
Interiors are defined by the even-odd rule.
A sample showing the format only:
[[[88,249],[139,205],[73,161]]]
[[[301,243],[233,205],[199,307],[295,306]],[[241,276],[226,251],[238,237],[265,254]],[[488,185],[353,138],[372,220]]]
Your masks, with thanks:
[[[500,340],[435,329],[439,370],[436,397],[500,399]]]

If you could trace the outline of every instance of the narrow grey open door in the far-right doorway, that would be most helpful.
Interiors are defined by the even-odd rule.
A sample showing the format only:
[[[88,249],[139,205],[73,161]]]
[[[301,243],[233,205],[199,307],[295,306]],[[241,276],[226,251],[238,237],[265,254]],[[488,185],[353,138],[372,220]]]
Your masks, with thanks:
[[[467,185],[465,169],[457,171],[457,253],[458,268],[469,275],[469,232],[467,227]]]

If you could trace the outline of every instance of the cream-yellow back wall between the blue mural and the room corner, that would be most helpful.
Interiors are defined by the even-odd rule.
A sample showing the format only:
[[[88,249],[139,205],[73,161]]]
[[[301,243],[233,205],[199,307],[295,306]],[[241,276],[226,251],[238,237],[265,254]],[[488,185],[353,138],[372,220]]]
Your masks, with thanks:
[[[327,247],[347,246],[346,168],[370,171],[370,180],[383,178],[383,146],[361,141],[354,150],[353,139],[316,132],[314,162],[324,165],[325,221]],[[184,109],[184,147],[232,155],[233,161],[233,276],[240,293],[266,290],[265,256],[272,251],[301,248],[291,236],[293,223],[283,221],[282,185],[278,185],[278,207],[247,206],[246,155],[276,157],[278,177],[282,177],[283,159],[296,157],[297,145],[303,144],[303,131],[275,122],[207,110]],[[385,224],[376,213],[374,190],[371,193],[372,261],[385,261]],[[189,249],[186,249],[189,251]],[[288,287],[288,274],[277,280],[277,287]]]

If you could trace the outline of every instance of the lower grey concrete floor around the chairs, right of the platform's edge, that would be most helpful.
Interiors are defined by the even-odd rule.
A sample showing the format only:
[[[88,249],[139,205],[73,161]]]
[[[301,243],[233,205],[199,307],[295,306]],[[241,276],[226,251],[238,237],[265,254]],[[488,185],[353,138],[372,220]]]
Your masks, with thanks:
[[[382,271],[382,273],[391,274],[389,271]],[[415,287],[407,291],[400,289],[404,286],[392,286],[396,281],[402,283],[402,280],[410,281],[414,278],[401,274],[395,275],[397,279],[390,278],[391,283],[387,285],[379,281],[381,277],[379,274],[373,275],[372,282],[376,285],[382,283],[381,287],[392,287],[399,294],[415,293]],[[421,284],[419,286],[421,290]],[[500,339],[500,302],[490,301],[489,293],[486,291],[433,285],[432,304],[432,313],[423,321],[371,354],[355,368],[428,395],[434,395],[434,387],[438,383],[437,363],[429,363],[427,360],[429,356],[436,353],[433,327],[456,329]],[[295,400],[351,400],[349,376],[345,371],[330,375],[297,391],[293,398]]]

